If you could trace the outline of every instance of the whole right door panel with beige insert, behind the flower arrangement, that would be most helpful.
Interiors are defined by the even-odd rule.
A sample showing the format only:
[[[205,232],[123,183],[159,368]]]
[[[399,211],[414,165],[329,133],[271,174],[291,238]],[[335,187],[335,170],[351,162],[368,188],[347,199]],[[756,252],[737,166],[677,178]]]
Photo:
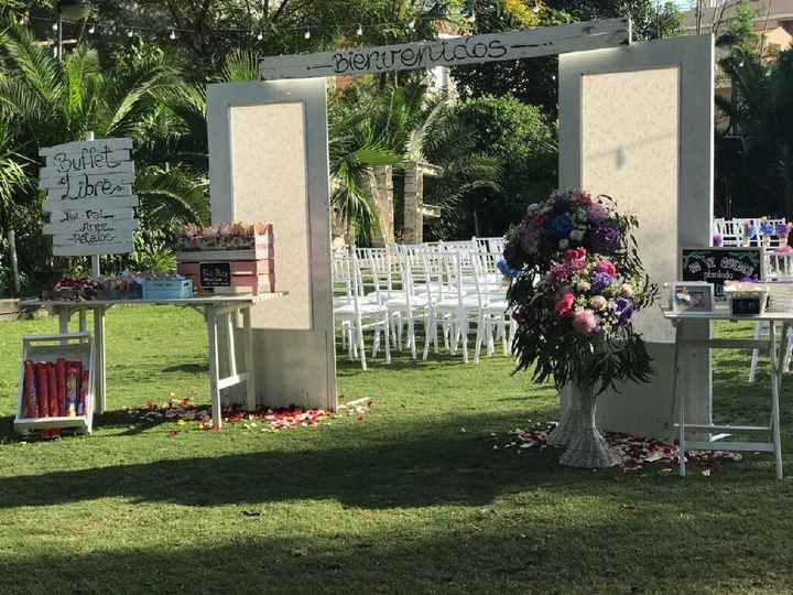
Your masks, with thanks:
[[[707,246],[713,217],[713,39],[686,36],[560,57],[560,186],[612,196],[639,218],[640,256],[661,284],[680,277],[681,246]],[[648,386],[605,394],[598,422],[671,433],[674,333],[660,312],[637,318],[654,358]],[[709,324],[689,325],[707,338]],[[710,359],[682,356],[691,420],[710,421]],[[564,400],[564,399],[563,399]]]

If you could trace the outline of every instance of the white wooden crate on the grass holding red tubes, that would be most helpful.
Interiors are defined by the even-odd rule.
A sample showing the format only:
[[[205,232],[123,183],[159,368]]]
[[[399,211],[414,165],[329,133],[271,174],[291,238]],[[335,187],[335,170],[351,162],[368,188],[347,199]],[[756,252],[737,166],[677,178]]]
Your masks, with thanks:
[[[88,392],[85,414],[78,416],[26,418],[24,403],[24,363],[36,364],[56,361],[59,357],[66,360],[80,361],[83,369],[88,370]],[[48,430],[52,428],[74,428],[85,434],[94,430],[94,342],[88,333],[66,335],[28,335],[22,337],[22,361],[20,363],[20,382],[17,393],[17,415],[14,430]]]

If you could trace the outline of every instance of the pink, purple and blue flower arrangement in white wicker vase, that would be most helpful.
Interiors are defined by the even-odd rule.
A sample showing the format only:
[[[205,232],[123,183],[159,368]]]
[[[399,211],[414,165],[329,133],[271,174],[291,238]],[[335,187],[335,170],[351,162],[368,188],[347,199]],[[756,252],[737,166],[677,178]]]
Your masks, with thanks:
[[[637,225],[606,196],[558,192],[530,205],[507,237],[507,264],[521,271],[509,291],[518,369],[532,369],[536,382],[571,386],[579,400],[548,436],[567,446],[563,464],[618,462],[595,428],[597,397],[652,374],[633,315],[654,301],[658,288],[637,253]]]

